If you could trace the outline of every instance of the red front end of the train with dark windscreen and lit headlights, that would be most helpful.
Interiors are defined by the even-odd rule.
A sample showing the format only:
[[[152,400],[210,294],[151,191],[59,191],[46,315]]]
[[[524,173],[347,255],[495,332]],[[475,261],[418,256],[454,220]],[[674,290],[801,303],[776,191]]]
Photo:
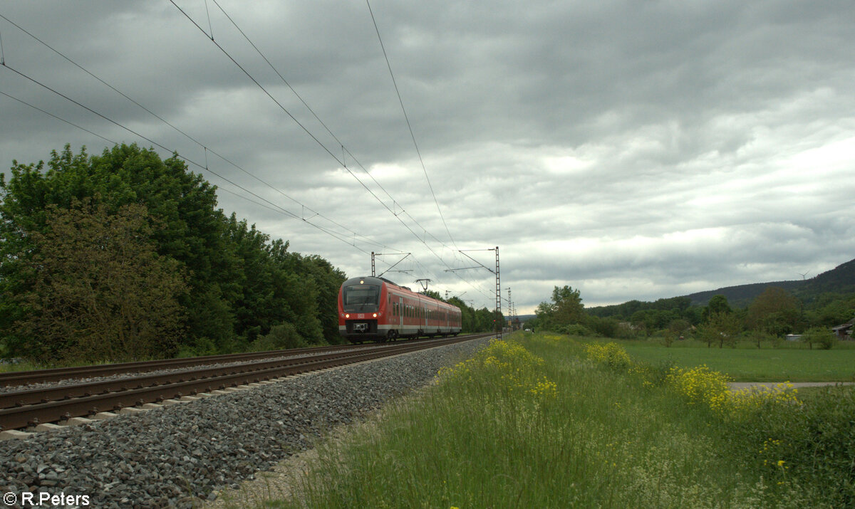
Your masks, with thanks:
[[[339,334],[350,342],[385,338],[377,329],[383,317],[383,281],[379,278],[350,278],[339,290]]]

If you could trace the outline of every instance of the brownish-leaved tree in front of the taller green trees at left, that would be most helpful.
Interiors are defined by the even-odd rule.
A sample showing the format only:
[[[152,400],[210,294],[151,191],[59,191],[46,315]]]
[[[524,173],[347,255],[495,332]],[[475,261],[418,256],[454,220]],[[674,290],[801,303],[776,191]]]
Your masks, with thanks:
[[[173,354],[182,332],[180,264],[156,253],[155,222],[141,205],[112,214],[101,203],[45,208],[43,231],[28,231],[27,307],[16,323],[28,341],[12,354],[40,362],[139,360]]]

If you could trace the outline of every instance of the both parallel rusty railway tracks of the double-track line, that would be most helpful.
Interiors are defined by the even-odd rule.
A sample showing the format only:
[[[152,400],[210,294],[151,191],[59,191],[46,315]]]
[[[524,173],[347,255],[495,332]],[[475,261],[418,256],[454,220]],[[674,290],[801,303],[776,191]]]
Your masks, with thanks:
[[[44,372],[14,373],[20,383],[115,375],[128,372],[150,372],[164,368],[185,370],[149,376],[117,377],[99,382],[81,382],[50,388],[21,389],[0,394],[0,431],[85,417],[98,412],[113,412],[145,403],[174,401],[187,395],[260,383],[274,378],[344,366],[365,360],[380,359],[477,339],[489,334],[451,337],[377,345],[339,345],[337,347],[299,348],[257,354],[213,355],[193,359],[125,363],[106,366],[61,368]],[[335,350],[331,352],[331,350]],[[331,353],[330,353],[331,352]],[[286,357],[283,355],[310,354]],[[260,360],[276,356],[275,360]],[[202,367],[212,363],[235,363],[229,366]],[[45,373],[48,372],[48,373]],[[56,378],[59,377],[59,378]]]

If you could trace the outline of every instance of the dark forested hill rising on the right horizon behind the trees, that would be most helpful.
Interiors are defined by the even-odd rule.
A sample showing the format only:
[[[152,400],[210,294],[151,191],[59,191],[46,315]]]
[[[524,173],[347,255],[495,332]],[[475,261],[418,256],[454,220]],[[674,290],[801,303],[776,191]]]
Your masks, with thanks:
[[[769,286],[787,290],[805,302],[813,301],[818,295],[828,292],[855,293],[855,260],[849,260],[810,279],[740,284],[685,296],[692,299],[693,306],[706,306],[713,295],[724,295],[732,307],[747,307]]]

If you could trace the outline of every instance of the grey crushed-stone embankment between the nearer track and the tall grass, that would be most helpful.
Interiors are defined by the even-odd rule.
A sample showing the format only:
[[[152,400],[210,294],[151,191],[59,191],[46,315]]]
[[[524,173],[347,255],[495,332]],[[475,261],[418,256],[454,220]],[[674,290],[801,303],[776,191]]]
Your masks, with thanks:
[[[86,495],[91,507],[192,507],[193,497],[212,498],[215,489],[236,486],[309,447],[307,436],[422,387],[439,367],[486,341],[0,442],[0,489],[16,494],[15,506],[22,492],[32,492],[36,499],[39,493]]]

